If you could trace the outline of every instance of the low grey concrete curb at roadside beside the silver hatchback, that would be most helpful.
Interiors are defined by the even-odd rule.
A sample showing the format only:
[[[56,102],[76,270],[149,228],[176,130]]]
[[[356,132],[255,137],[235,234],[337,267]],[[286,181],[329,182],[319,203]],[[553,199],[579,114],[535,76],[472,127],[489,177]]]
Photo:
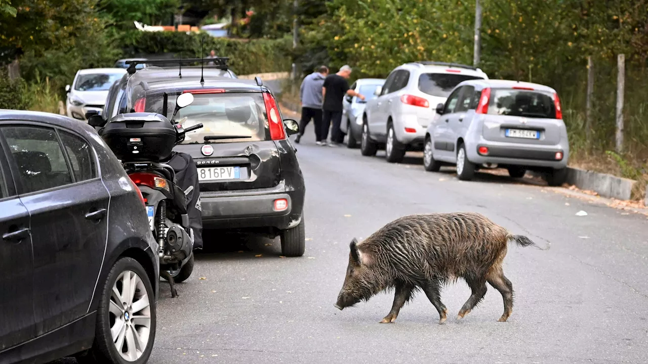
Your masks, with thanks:
[[[537,172],[531,174],[533,176],[542,176]],[[566,183],[581,188],[581,190],[594,191],[605,198],[628,200],[631,199],[632,187],[637,181],[612,176],[611,174],[568,167]],[[646,201],[648,203],[648,198]]]

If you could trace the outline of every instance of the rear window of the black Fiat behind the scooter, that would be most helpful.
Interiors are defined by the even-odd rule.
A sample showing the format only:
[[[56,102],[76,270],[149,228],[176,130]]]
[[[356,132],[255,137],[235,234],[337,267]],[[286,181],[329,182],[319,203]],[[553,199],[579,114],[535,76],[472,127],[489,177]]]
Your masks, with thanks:
[[[175,96],[168,97],[168,117],[176,106]],[[146,98],[146,111],[161,113],[163,97],[150,95]],[[183,120],[184,118],[186,120]],[[242,142],[269,140],[266,106],[262,93],[205,93],[194,94],[194,102],[178,111],[175,120],[185,128],[202,123],[203,127],[187,133],[183,144],[203,142]],[[231,139],[205,141],[205,137]]]

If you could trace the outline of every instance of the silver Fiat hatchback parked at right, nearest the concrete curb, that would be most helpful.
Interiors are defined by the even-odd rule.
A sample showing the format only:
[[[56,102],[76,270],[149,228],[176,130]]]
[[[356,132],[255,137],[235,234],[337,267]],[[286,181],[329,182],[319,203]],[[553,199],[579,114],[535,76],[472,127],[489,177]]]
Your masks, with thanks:
[[[428,171],[457,165],[457,176],[472,178],[483,164],[546,172],[551,186],[566,178],[569,159],[561,102],[554,89],[529,82],[470,80],[452,91],[426,131],[423,163]]]

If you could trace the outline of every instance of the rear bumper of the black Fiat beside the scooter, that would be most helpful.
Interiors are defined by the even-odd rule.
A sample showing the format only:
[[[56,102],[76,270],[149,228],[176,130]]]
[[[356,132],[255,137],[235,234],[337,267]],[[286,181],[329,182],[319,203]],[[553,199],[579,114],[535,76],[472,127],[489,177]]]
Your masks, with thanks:
[[[303,196],[286,191],[282,181],[276,187],[258,190],[201,192],[203,227],[207,229],[246,229],[270,227],[286,230],[301,220]],[[276,199],[286,199],[287,208],[277,211]]]

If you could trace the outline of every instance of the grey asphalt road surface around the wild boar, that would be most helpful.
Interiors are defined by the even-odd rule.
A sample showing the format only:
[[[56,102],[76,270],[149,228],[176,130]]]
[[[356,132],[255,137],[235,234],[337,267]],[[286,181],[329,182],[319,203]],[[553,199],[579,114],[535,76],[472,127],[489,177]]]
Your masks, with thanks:
[[[424,172],[420,159],[392,165],[383,152],[362,157],[316,146],[312,124],[297,150],[307,183],[305,256],[280,258],[279,239],[206,236],[205,245],[220,248],[196,257],[180,297],[161,285],[150,363],[647,360],[645,216],[507,177],[459,182],[452,169]],[[576,216],[580,210],[588,215]],[[444,325],[424,295],[393,324],[378,323],[392,295],[334,308],[352,238],[406,214],[453,211],[486,214],[542,247],[509,247],[504,271],[516,293],[509,322],[496,322],[502,296],[490,286],[480,306],[456,321],[470,294],[463,281],[443,290]]]

